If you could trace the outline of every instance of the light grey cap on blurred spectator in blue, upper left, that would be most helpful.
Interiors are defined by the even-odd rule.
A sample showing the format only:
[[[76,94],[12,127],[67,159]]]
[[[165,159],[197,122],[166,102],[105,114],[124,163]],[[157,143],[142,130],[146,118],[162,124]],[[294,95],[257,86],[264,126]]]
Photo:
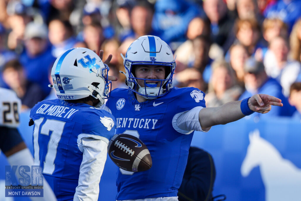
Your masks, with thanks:
[[[32,39],[32,38],[46,39],[46,38],[48,38],[48,28],[45,24],[29,22],[25,28],[24,38],[25,39]]]

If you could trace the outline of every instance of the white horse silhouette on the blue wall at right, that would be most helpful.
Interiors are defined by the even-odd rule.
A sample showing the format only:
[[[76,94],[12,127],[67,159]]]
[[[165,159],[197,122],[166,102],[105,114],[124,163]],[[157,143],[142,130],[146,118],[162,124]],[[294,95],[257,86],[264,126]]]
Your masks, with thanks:
[[[301,200],[301,169],[282,158],[271,143],[260,137],[259,130],[251,132],[249,139],[247,155],[240,168],[242,176],[247,177],[259,166],[266,201]]]

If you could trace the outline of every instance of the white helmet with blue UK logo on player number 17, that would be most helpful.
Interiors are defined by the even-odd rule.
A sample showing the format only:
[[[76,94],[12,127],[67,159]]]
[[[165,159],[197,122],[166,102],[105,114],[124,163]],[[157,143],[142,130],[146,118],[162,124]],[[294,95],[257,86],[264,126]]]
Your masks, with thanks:
[[[69,49],[53,64],[51,77],[57,97],[76,100],[92,96],[99,100],[95,107],[104,104],[110,93],[109,67],[99,56],[87,48]]]

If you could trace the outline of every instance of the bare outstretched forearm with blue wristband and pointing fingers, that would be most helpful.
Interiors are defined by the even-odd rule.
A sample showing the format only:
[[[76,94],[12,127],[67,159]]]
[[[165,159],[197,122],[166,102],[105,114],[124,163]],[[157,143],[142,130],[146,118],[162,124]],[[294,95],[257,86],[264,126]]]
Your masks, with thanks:
[[[250,97],[247,102],[244,100],[233,101],[219,107],[203,108],[199,112],[200,125],[204,130],[214,125],[237,121],[251,111],[267,113],[271,110],[271,105],[283,106],[281,99],[266,94],[256,94]]]

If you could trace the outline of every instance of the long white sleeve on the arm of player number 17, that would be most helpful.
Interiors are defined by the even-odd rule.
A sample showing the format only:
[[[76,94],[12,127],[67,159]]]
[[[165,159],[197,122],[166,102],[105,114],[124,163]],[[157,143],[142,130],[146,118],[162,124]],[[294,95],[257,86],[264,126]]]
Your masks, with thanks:
[[[73,200],[98,199],[100,177],[107,159],[108,140],[104,141],[104,139],[80,137],[80,150],[83,152],[83,157]]]

